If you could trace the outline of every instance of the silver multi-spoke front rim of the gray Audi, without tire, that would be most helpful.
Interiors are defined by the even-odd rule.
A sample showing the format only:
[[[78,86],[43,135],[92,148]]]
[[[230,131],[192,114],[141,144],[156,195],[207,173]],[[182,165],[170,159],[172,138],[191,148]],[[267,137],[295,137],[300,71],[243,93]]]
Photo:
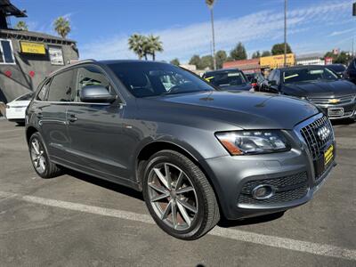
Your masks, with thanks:
[[[171,163],[159,163],[150,170],[150,204],[166,225],[176,231],[190,228],[198,214],[198,198],[190,177]]]

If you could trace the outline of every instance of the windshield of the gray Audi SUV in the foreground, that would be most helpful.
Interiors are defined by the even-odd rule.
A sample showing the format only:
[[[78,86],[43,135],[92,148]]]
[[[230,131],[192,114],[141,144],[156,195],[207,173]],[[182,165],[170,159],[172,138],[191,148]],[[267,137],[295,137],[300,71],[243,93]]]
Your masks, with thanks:
[[[189,71],[166,63],[118,62],[108,66],[136,97],[214,90]]]

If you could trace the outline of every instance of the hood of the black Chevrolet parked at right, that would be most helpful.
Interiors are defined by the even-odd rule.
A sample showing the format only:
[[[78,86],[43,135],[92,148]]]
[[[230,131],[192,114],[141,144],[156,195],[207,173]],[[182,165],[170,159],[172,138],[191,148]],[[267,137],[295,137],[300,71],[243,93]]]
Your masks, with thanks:
[[[283,92],[295,96],[339,97],[356,94],[356,85],[349,81],[336,80],[317,83],[297,83],[284,85]]]

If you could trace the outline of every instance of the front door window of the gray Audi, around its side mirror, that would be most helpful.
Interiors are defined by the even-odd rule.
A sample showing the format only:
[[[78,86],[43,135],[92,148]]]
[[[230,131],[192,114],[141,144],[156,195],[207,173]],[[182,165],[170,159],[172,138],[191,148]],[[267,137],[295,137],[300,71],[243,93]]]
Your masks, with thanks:
[[[80,92],[84,86],[102,85],[112,93],[112,86],[107,77],[101,73],[100,69],[93,66],[82,67],[77,70],[77,89],[74,100],[80,102]]]

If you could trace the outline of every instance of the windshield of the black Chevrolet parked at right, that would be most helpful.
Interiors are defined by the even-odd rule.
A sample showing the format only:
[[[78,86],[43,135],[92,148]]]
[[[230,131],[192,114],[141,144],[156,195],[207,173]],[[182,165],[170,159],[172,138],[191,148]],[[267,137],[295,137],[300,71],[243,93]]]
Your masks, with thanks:
[[[338,77],[334,72],[327,68],[305,68],[305,69],[287,69],[283,71],[283,80],[285,84],[313,82],[313,81],[335,81]]]

